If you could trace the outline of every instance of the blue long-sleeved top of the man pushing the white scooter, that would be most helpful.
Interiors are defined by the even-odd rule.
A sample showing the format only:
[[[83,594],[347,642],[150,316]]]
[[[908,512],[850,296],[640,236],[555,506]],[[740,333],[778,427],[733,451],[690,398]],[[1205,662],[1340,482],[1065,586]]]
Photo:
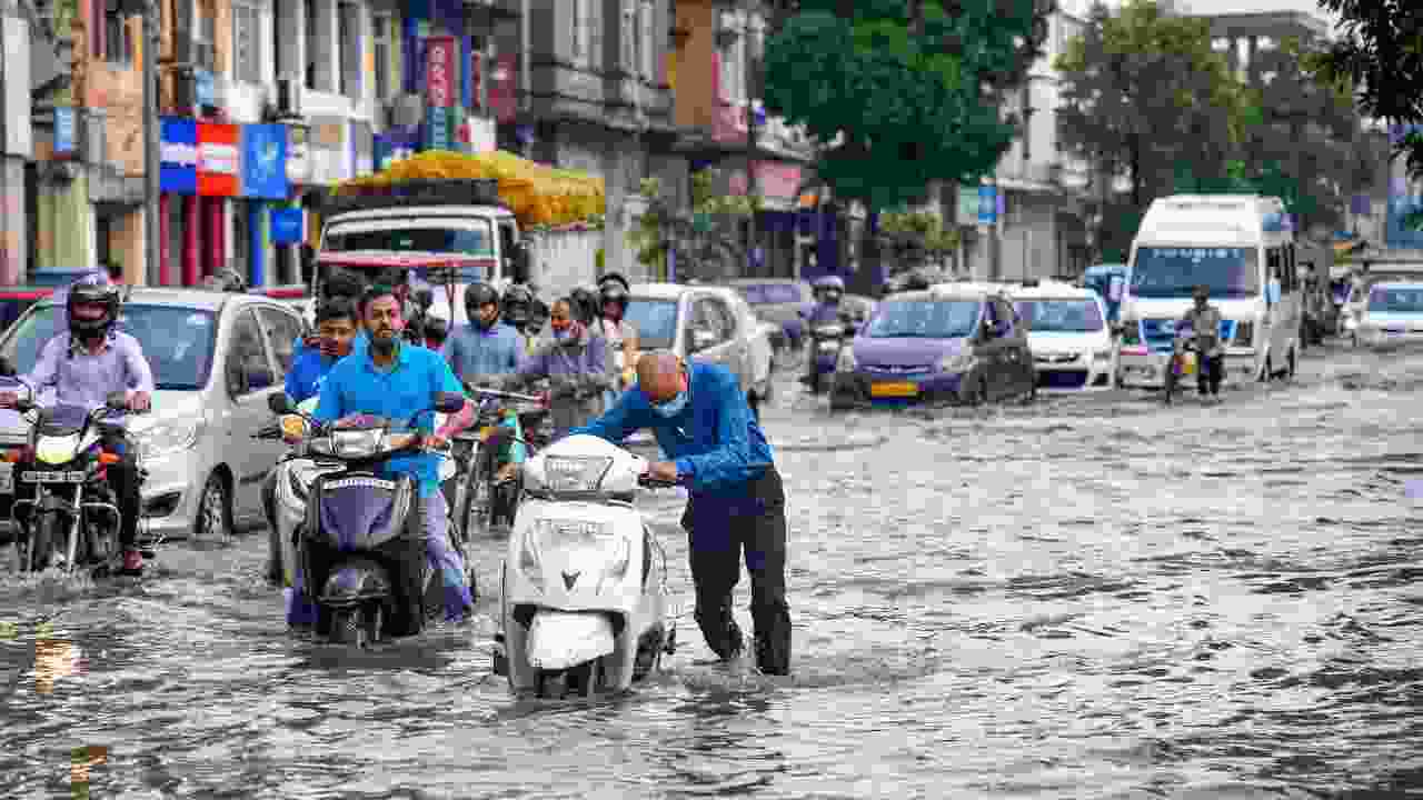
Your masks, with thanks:
[[[602,417],[571,433],[622,444],[633,431],[652,428],[677,473],[690,478],[693,495],[744,497],[748,484],[774,464],[771,446],[731,370],[703,363],[687,369],[690,397],[677,416],[655,411],[647,396],[633,386]]]

